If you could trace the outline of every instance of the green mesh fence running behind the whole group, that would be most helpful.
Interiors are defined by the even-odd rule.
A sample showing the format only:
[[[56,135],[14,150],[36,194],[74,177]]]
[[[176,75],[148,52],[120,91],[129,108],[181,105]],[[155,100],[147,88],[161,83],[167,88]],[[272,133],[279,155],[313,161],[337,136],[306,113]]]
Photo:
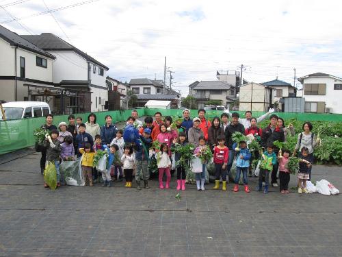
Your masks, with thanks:
[[[155,112],[161,112],[163,116],[181,116],[183,110],[180,109],[137,109],[140,116],[153,116]],[[191,117],[197,116],[197,110],[191,110]],[[131,110],[116,110],[109,112],[94,112],[97,117],[96,123],[103,125],[105,116],[111,115],[114,122],[126,121],[127,117],[131,116]],[[75,114],[75,117],[82,117],[86,123],[88,113]],[[222,114],[222,111],[207,111],[207,117],[212,119],[215,116]],[[244,112],[239,112],[241,117]],[[259,117],[263,112],[253,112],[254,117]],[[342,121],[342,114],[311,114],[311,113],[277,113],[283,119],[295,118],[299,121]],[[58,125],[61,121],[68,123],[68,115],[57,115],[53,119],[53,124]],[[12,121],[0,121],[0,154],[5,154],[10,151],[31,147],[35,143],[33,132],[36,128],[45,123],[45,118],[30,118],[18,119]]]

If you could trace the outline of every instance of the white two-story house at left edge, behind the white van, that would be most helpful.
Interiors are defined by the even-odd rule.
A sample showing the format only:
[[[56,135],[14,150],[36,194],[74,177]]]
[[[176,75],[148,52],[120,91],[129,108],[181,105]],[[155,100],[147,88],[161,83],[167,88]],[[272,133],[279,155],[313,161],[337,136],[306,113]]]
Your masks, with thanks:
[[[53,87],[55,59],[52,53],[0,25],[0,100],[31,100],[29,84]]]

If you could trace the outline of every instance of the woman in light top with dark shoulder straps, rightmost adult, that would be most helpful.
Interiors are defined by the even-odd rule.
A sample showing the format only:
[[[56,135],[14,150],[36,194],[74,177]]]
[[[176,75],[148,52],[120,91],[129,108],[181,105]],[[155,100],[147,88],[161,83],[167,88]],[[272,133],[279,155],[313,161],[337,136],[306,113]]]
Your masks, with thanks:
[[[304,122],[302,126],[303,132],[298,134],[297,144],[293,151],[293,156],[297,154],[297,151],[301,151],[303,147],[308,148],[308,159],[311,164],[313,163],[313,150],[317,146],[317,136],[311,132],[313,125],[310,121]],[[312,167],[312,166],[311,166]],[[311,167],[308,168],[309,179],[311,180]]]

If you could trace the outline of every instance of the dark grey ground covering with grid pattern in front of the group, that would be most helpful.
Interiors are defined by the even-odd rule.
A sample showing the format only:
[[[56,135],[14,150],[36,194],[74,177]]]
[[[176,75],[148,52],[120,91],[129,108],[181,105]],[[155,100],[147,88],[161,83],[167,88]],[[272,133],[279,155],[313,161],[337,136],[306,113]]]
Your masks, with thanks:
[[[0,256],[342,256],[342,197],[43,187],[40,155],[0,156]],[[14,159],[14,160],[12,160]],[[313,180],[342,188],[341,167]],[[252,178],[252,188],[256,186]],[[295,186],[295,178],[291,178]]]

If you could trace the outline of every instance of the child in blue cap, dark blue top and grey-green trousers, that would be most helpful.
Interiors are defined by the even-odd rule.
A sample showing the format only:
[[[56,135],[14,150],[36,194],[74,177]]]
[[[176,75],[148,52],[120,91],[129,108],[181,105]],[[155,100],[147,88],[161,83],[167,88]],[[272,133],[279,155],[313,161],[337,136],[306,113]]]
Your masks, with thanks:
[[[140,136],[142,143],[137,145],[137,150],[135,151],[135,182],[137,182],[137,190],[140,190],[140,176],[142,175],[142,180],[144,180],[144,188],[148,189],[148,179],[150,178],[150,173],[148,171],[148,149],[152,145],[152,140],[150,139],[150,129],[144,129],[144,136]]]

